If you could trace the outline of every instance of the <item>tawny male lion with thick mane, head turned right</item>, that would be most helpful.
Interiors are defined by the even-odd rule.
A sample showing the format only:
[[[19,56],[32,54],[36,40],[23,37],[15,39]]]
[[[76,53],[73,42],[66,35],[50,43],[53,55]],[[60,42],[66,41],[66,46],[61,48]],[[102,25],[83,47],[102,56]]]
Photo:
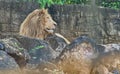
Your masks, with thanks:
[[[56,22],[48,13],[47,9],[36,9],[31,12],[20,26],[20,35],[45,39],[53,34]]]

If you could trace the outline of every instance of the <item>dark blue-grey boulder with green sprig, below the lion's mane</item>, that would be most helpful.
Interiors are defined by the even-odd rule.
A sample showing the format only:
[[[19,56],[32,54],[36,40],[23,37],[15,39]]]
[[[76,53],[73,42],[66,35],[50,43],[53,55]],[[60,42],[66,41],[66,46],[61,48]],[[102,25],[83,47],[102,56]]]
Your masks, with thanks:
[[[16,39],[20,42],[23,48],[27,49],[31,57],[27,63],[27,66],[30,68],[35,69],[40,64],[43,64],[43,62],[50,62],[58,56],[49,43],[44,40],[23,36],[17,36]]]

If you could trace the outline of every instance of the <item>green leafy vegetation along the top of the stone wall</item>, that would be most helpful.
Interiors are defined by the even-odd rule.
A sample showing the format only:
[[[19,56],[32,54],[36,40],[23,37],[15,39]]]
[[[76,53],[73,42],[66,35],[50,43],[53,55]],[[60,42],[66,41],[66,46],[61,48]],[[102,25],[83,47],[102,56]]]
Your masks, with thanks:
[[[40,4],[41,8],[45,6],[50,6],[52,4],[88,4],[92,0],[23,0],[23,1],[34,1]],[[95,0],[98,6],[109,7],[114,9],[120,9],[120,1],[119,0]]]

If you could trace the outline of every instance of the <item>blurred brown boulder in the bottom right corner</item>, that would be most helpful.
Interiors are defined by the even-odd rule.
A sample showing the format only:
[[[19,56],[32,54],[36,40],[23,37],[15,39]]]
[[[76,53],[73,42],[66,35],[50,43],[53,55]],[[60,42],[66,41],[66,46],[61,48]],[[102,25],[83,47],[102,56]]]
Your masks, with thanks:
[[[93,64],[94,67],[91,74],[114,74],[112,72],[115,70],[120,72],[120,51],[111,51],[101,54],[95,59]]]

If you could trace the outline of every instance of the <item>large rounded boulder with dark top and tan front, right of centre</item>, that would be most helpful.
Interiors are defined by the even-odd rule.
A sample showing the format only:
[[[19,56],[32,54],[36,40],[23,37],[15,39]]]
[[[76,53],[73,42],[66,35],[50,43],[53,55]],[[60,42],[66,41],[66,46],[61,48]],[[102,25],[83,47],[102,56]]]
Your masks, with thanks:
[[[56,59],[60,69],[67,74],[90,74],[92,59],[97,57],[96,43],[87,36],[81,36],[67,45]]]

